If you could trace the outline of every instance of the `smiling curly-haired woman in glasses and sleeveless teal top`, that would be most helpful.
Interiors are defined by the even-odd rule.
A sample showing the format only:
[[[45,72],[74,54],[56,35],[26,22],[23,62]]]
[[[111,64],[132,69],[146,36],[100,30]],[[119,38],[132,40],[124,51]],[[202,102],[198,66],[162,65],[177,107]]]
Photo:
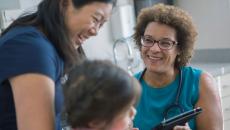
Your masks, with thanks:
[[[191,16],[170,5],[141,10],[134,40],[145,69],[135,77],[142,85],[134,126],[150,130],[162,120],[195,107],[203,112],[174,129],[222,130],[220,96],[213,77],[187,66],[197,36]]]

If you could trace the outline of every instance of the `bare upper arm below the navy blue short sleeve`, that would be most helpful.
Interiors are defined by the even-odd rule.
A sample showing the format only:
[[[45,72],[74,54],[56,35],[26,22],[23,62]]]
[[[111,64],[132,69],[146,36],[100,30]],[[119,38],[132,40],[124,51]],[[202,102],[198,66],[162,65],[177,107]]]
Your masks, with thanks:
[[[42,74],[10,79],[18,130],[54,130],[54,82]]]

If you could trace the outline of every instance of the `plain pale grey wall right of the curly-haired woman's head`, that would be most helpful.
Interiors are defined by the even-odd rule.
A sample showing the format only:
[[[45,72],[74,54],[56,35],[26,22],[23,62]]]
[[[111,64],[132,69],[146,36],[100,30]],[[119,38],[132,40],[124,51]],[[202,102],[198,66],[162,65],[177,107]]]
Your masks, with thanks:
[[[198,28],[197,49],[230,48],[230,0],[177,0]]]

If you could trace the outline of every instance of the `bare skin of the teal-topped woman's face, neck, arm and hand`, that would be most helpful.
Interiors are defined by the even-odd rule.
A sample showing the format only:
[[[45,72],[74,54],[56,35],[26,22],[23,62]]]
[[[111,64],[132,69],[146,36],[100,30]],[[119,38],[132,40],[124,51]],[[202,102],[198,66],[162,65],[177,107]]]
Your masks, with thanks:
[[[155,40],[162,38],[176,39],[176,30],[168,25],[151,22],[147,25],[144,35],[152,36]],[[151,86],[164,87],[171,83],[178,70],[174,68],[176,56],[180,52],[174,46],[171,50],[161,50],[157,44],[152,47],[141,47],[141,56],[147,71],[144,80]],[[196,106],[203,108],[197,116],[197,130],[222,130],[223,116],[220,96],[213,77],[203,72],[200,77],[199,99]],[[174,130],[189,130],[189,126],[176,126]]]

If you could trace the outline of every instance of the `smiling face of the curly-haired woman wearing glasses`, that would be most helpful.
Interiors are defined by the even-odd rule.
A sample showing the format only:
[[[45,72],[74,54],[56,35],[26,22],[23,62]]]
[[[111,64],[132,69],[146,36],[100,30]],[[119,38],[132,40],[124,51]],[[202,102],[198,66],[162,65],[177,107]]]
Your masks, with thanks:
[[[166,24],[151,22],[147,25],[144,36],[151,37],[154,40],[168,39],[177,41],[176,30]],[[141,56],[147,70],[157,73],[164,73],[174,69],[174,63],[179,51],[174,45],[169,50],[162,50],[158,44],[151,47],[141,46]]]

